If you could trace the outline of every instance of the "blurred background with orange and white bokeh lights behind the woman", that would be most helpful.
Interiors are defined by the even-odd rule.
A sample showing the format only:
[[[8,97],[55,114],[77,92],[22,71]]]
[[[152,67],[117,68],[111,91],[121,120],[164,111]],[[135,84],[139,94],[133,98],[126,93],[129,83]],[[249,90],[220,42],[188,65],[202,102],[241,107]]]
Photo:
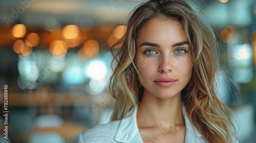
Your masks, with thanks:
[[[113,99],[110,46],[124,34],[131,0],[0,1],[0,142],[77,142],[108,122]],[[239,136],[254,142],[256,111],[256,1],[189,2],[221,38],[224,103],[239,117]],[[5,85],[8,109],[4,108]],[[8,122],[8,139],[5,139]]]

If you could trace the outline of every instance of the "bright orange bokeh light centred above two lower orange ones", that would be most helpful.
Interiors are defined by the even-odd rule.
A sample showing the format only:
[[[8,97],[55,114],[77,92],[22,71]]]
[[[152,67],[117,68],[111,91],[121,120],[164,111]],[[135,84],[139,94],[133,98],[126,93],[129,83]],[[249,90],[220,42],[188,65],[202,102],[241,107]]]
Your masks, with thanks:
[[[80,29],[75,25],[67,25],[62,29],[62,36],[65,39],[74,39],[79,36]]]

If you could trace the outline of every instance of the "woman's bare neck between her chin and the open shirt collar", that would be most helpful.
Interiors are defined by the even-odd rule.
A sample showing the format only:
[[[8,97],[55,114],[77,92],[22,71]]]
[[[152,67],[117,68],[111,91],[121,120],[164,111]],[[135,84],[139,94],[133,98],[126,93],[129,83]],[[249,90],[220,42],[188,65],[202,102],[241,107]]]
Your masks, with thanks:
[[[168,99],[160,99],[152,94],[143,94],[137,111],[138,127],[159,127],[185,125],[181,94]]]

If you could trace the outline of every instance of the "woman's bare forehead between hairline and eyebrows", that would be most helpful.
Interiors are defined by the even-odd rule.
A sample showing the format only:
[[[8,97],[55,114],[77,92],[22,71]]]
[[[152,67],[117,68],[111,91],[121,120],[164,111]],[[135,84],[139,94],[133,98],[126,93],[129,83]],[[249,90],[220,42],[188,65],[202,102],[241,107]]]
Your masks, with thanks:
[[[178,20],[155,17],[148,20],[139,32],[137,44],[145,41],[173,44],[187,41],[187,37]]]

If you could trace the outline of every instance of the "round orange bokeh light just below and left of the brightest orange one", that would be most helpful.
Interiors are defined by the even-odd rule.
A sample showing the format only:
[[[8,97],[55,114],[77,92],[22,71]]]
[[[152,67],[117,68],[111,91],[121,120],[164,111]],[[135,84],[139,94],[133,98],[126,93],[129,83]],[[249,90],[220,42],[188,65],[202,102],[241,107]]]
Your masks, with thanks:
[[[50,44],[50,52],[59,58],[63,58],[66,56],[68,52],[68,46],[65,41],[62,40],[54,40]]]

